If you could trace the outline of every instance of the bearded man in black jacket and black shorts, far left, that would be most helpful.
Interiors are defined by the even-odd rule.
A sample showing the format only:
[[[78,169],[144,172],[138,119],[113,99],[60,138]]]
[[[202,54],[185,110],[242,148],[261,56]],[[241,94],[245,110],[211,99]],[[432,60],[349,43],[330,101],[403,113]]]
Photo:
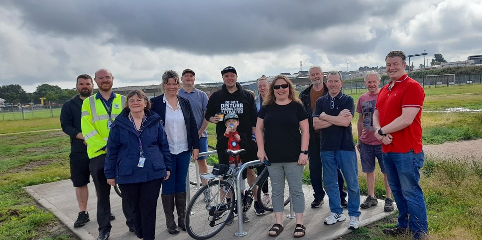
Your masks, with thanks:
[[[89,189],[87,184],[90,182],[89,156],[87,146],[84,144],[84,136],[81,130],[81,108],[84,99],[92,96],[94,82],[92,77],[82,74],[77,77],[75,85],[79,94],[65,102],[60,112],[60,125],[62,131],[70,136],[70,179],[75,187],[75,196],[79,204],[79,216],[74,223],[74,227],[82,227],[89,222],[87,213],[87,199]]]

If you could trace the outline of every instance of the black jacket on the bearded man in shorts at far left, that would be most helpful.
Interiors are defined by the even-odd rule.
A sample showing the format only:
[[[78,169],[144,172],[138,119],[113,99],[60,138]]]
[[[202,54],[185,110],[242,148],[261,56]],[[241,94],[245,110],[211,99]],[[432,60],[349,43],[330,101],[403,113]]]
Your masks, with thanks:
[[[77,139],[78,133],[82,132],[80,119],[82,118],[82,103],[84,100],[77,95],[65,102],[60,111],[60,126],[62,131],[70,136],[70,150],[72,152],[87,152],[84,140]]]

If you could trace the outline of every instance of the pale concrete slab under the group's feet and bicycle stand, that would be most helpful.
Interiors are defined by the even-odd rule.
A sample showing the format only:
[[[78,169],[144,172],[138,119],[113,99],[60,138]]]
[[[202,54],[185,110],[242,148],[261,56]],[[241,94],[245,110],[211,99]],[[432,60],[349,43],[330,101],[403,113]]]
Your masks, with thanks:
[[[190,185],[191,196],[194,196],[196,190],[195,186]],[[351,232],[348,229],[348,212],[345,209],[344,213],[347,216],[347,220],[337,223],[332,226],[323,224],[323,221],[330,214],[328,206],[328,197],[325,197],[325,204],[320,208],[312,209],[311,202],[313,201],[313,191],[311,186],[304,185],[305,193],[305,212],[304,212],[304,225],[306,226],[306,236],[304,239],[320,239],[320,240],[332,240],[337,239],[343,235]],[[74,222],[77,219],[79,212],[77,200],[75,198],[75,191],[70,180],[64,180],[53,183],[40,184],[35,186],[25,187],[25,191],[30,194],[40,205],[52,212],[62,223],[74,232],[79,238],[83,240],[95,240],[99,234],[96,220],[96,195],[94,184],[89,183],[89,202],[88,212],[90,216],[90,222],[84,227],[73,228]],[[365,199],[361,196],[361,201]],[[361,209],[360,224],[361,226],[368,225],[375,221],[378,221],[393,212],[383,212],[383,200],[378,201],[378,205],[369,209]],[[111,240],[137,240],[133,233],[130,233],[125,226],[125,218],[122,214],[121,199],[115,193],[111,191],[111,212],[116,215],[116,220],[112,221]],[[285,207],[284,216],[289,214],[289,205]],[[177,214],[175,214],[177,219]],[[243,225],[243,231],[247,233],[246,236],[237,238],[234,236],[239,231],[238,221],[232,226],[226,226],[220,233],[218,233],[212,239],[267,239],[268,229],[274,224],[274,214],[267,212],[264,216],[256,216],[251,209],[247,216],[250,222]],[[284,231],[277,238],[270,239],[293,239],[293,232],[296,225],[294,219],[284,218]],[[164,212],[162,210],[161,201],[158,201],[157,205],[157,225],[156,225],[156,239],[172,239],[172,240],[184,240],[191,239],[187,232],[181,231],[178,235],[169,235],[166,230]]]

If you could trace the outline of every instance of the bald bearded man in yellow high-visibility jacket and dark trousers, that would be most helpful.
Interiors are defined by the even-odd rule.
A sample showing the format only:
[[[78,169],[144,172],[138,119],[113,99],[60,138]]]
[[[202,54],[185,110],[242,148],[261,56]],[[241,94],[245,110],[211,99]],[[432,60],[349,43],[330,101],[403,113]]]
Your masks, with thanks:
[[[110,223],[111,185],[107,183],[107,178],[104,174],[107,138],[109,137],[111,124],[124,107],[125,97],[112,91],[114,77],[111,71],[107,69],[97,70],[94,81],[96,81],[99,87],[99,92],[94,96],[88,97],[82,104],[81,124],[82,134],[87,144],[87,154],[90,159],[89,170],[97,192],[98,240],[107,240],[112,228]],[[129,231],[134,232],[132,208],[125,198],[122,198],[122,211]]]

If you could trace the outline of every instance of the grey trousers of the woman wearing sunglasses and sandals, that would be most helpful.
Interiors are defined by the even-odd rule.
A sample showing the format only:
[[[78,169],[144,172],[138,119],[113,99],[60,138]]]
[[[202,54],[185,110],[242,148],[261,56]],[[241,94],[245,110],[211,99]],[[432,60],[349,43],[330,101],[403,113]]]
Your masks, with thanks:
[[[267,168],[271,180],[273,212],[283,212],[284,179],[286,177],[293,211],[303,213],[305,211],[305,195],[302,188],[303,165],[298,165],[297,162],[273,162]]]

